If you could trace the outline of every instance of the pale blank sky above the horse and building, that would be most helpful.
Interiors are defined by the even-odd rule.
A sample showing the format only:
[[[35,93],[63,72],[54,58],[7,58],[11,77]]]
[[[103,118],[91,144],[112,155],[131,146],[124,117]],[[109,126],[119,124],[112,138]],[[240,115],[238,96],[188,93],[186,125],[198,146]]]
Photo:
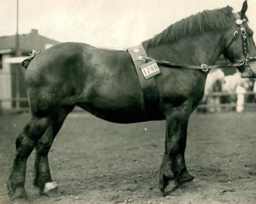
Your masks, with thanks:
[[[60,42],[131,47],[176,21],[205,9],[244,0],[19,0],[19,34],[31,28]],[[256,31],[256,0],[247,0],[249,26]],[[0,0],[0,36],[16,32],[17,0]]]

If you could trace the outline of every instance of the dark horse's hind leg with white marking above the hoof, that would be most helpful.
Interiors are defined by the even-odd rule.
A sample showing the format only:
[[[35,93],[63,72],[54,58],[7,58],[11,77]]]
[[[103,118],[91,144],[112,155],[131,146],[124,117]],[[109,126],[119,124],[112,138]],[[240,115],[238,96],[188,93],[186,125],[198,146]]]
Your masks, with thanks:
[[[50,126],[35,147],[35,179],[33,184],[35,187],[39,188],[41,194],[47,196],[58,196],[61,194],[58,190],[58,185],[54,181],[52,181],[51,178],[48,163],[48,153],[55,136],[61,129],[64,120],[66,119],[67,115],[73,110],[73,108],[73,106],[61,108],[52,117],[52,122]]]

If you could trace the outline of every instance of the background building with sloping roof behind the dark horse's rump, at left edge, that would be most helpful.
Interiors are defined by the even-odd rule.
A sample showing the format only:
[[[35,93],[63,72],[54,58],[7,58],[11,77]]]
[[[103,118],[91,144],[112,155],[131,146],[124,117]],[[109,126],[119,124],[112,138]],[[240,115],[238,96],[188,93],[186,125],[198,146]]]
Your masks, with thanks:
[[[13,98],[26,97],[25,68],[20,62],[29,57],[32,50],[43,51],[60,42],[38,34],[32,29],[29,34],[18,36],[18,50],[16,35],[0,37],[0,100],[2,108],[26,107],[28,103],[12,101]],[[16,50],[19,57],[15,57]]]

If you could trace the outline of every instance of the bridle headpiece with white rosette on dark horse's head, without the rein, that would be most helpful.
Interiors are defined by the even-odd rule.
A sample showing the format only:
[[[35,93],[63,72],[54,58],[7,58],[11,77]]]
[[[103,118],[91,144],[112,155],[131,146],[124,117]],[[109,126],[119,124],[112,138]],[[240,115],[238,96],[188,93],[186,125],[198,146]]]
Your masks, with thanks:
[[[239,13],[233,13],[234,17],[236,18],[236,25],[238,25],[238,30],[236,30],[233,34],[233,39],[231,40],[231,42],[229,43],[229,45],[226,47],[230,47],[230,45],[236,40],[238,34],[239,34],[239,30],[241,32],[241,39],[242,39],[242,50],[243,50],[243,54],[244,54],[244,58],[237,60],[234,63],[239,63],[240,67],[242,68],[242,73],[244,72],[245,67],[249,67],[250,72],[252,74],[252,77],[255,79],[256,78],[256,74],[254,74],[254,72],[251,70],[250,66],[247,64],[247,62],[249,61],[255,61],[256,60],[256,55],[249,57],[249,53],[248,53],[248,43],[247,43],[247,37],[246,37],[246,31],[244,28],[243,23],[246,22],[246,18],[241,20],[241,17],[239,15]],[[225,60],[227,61],[226,57],[224,57]]]

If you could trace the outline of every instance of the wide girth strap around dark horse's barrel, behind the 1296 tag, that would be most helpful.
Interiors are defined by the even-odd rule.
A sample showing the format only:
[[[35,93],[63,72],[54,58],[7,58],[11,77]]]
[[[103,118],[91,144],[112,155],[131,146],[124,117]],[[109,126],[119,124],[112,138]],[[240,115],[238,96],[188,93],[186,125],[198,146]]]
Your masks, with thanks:
[[[140,86],[142,89],[141,103],[143,115],[145,116],[145,121],[149,121],[151,119],[155,120],[156,118],[158,118],[158,116],[162,116],[159,115],[162,111],[160,111],[159,92],[156,86],[156,81],[154,77],[151,77],[150,79],[145,79],[142,71],[140,70],[140,66],[146,62],[141,61],[139,57],[147,57],[146,51],[142,45],[127,48],[127,50],[134,62],[140,81]]]

